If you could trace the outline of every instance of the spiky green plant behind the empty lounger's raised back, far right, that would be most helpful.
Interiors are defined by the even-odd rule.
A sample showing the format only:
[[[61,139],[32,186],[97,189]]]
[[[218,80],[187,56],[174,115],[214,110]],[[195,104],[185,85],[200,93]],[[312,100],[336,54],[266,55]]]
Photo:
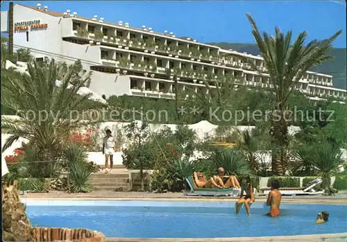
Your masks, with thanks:
[[[317,171],[317,175],[323,179],[325,191],[329,191],[330,177],[335,175],[344,164],[341,155],[339,146],[328,143],[301,146],[294,151],[298,166],[312,166]]]

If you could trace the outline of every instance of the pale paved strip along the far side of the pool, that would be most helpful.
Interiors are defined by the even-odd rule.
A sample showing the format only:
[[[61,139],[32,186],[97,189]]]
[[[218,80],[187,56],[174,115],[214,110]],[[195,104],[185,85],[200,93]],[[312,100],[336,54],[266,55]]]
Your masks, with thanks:
[[[183,193],[149,193],[122,191],[93,191],[91,193],[65,193],[50,191],[49,193],[26,193],[21,198],[33,200],[173,200],[173,201],[230,201],[236,202],[237,197],[198,197],[184,196]],[[266,196],[257,196],[255,202],[266,202]],[[283,196],[282,202],[337,204],[347,205],[347,191],[336,196]]]

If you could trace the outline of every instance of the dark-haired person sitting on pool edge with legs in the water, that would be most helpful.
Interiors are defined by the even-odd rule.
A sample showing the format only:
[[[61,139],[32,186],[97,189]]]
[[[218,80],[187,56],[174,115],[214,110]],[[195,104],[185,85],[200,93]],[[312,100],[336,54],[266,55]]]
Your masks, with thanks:
[[[246,195],[244,195],[246,193]],[[241,193],[239,200],[236,203],[236,214],[239,214],[239,209],[241,209],[242,204],[246,208],[247,215],[250,215],[249,206],[255,201],[254,189],[251,184],[251,178],[246,176],[241,180]]]

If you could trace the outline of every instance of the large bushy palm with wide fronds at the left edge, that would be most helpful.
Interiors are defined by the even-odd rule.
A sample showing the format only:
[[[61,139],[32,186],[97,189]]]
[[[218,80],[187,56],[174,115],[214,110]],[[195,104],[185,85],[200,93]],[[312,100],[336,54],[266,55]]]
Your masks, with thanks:
[[[49,66],[29,63],[28,74],[19,74],[19,78],[3,76],[1,105],[19,116],[1,120],[2,132],[10,134],[3,150],[22,137],[37,148],[42,161],[53,161],[61,155],[64,139],[71,130],[90,123],[85,112],[101,104],[89,101],[90,94],[77,94],[89,77],[77,78],[74,69],[69,69],[58,87],[59,73],[60,67],[52,60]],[[71,86],[70,80],[74,85]]]

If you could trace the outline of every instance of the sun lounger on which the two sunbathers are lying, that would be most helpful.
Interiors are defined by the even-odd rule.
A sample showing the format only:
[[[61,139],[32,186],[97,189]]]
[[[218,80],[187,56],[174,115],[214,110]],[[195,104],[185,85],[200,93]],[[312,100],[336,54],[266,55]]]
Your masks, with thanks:
[[[192,177],[186,178],[189,191],[185,191],[185,196],[238,196],[241,189],[219,189],[219,188],[197,188]]]

